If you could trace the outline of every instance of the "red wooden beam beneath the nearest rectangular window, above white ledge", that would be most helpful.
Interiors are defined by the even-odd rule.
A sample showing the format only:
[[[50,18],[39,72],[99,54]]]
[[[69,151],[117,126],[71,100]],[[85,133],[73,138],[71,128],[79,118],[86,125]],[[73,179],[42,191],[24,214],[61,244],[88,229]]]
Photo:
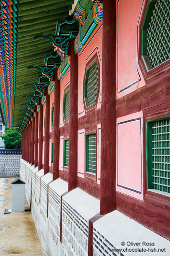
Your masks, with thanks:
[[[116,192],[118,211],[170,239],[170,211]]]

